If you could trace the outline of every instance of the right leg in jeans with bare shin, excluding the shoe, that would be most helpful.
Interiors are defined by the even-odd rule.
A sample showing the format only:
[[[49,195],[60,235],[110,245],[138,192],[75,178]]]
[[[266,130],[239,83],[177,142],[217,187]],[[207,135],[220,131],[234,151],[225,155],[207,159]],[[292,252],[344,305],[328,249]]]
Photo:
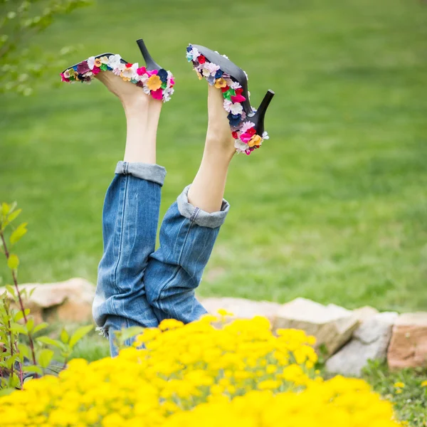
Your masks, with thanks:
[[[150,255],[144,284],[159,321],[197,320],[206,313],[194,297],[229,205],[223,200],[228,165],[235,153],[221,90],[209,86],[209,126],[193,184],[164,216],[160,247]]]

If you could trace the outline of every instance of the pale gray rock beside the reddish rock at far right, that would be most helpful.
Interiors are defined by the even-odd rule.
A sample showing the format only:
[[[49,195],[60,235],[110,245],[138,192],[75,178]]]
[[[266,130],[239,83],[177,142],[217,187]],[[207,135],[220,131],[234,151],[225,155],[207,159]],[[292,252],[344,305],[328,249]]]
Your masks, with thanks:
[[[384,361],[397,317],[396,312],[369,317],[354,332],[352,340],[327,360],[326,369],[334,374],[360,376],[369,360]]]

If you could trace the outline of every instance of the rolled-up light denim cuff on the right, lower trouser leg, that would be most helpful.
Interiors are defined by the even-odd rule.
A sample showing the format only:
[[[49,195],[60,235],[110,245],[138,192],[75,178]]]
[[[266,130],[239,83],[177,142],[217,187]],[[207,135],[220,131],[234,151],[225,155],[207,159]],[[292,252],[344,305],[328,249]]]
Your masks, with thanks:
[[[185,218],[189,218],[190,221],[196,223],[198,226],[209,228],[221,227],[224,221],[226,221],[226,216],[230,209],[228,201],[223,199],[221,211],[209,214],[208,212],[202,211],[200,208],[189,203],[189,189],[190,186],[186,186],[182,193],[179,194],[178,199],[176,199],[179,213]]]

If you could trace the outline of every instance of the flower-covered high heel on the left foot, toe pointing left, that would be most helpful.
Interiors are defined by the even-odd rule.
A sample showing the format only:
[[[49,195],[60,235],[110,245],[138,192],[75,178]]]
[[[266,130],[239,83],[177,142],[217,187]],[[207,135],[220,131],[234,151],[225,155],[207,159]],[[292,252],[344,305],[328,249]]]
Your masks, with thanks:
[[[151,95],[155,100],[169,101],[174,93],[174,76],[154,62],[142,38],[137,40],[137,43],[145,60],[145,66],[128,63],[114,53],[102,53],[63,70],[60,77],[63,82],[90,83],[97,73],[111,71],[115,75],[120,75],[123,80],[139,86],[144,93]]]

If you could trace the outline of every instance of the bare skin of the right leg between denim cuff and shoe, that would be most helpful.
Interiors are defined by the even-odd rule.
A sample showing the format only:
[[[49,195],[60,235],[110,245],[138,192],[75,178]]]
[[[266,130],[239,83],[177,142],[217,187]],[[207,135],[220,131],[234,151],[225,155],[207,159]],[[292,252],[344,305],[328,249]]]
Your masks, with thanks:
[[[208,132],[203,158],[189,189],[189,202],[206,212],[221,210],[228,165],[236,149],[220,89],[209,86]]]

